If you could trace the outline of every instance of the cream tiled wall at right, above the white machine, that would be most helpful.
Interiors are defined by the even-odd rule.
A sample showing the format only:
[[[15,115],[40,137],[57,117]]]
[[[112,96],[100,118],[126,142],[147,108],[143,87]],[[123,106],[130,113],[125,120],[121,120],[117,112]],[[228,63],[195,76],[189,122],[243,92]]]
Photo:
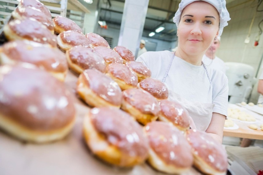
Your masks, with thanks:
[[[254,3],[252,4],[252,2]],[[253,66],[255,74],[263,55],[262,35],[259,40],[259,45],[254,47],[254,41],[259,32],[257,25],[263,19],[263,12],[256,13],[251,30],[250,43],[245,44],[244,40],[248,35],[249,26],[256,10],[256,2],[257,1],[236,0],[227,4],[231,20],[223,30],[221,46],[217,52],[217,56],[225,62],[240,62]],[[262,9],[262,4],[259,9]],[[263,23],[261,23],[261,27],[263,28]],[[257,103],[258,95],[257,84],[255,84],[250,102]]]

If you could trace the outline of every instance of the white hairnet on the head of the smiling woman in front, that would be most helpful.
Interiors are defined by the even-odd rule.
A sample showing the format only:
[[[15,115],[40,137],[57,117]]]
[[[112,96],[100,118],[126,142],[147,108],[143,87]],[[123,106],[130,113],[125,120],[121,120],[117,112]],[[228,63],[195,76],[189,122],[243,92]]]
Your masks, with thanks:
[[[181,3],[179,4],[179,8],[173,17],[173,22],[176,23],[177,27],[179,25],[179,21],[180,21],[183,9],[188,4],[195,2],[195,1],[200,1],[200,0],[182,0],[181,1]],[[226,8],[226,1],[225,0],[202,0],[202,1],[211,4],[217,9],[219,13],[219,22],[220,22],[218,36],[221,36],[223,32],[223,28],[228,25],[228,21],[231,19],[229,18],[229,13]]]

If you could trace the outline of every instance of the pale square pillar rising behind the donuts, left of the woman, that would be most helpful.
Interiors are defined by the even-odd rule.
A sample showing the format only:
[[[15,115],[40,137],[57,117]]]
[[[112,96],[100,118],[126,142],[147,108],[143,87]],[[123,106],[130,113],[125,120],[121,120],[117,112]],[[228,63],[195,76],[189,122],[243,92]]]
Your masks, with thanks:
[[[125,0],[118,45],[134,55],[138,53],[148,4],[149,0]]]

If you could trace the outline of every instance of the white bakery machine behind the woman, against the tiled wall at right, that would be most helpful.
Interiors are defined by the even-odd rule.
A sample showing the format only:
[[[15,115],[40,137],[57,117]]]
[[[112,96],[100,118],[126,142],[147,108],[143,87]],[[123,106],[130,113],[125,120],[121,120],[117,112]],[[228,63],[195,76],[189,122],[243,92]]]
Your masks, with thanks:
[[[244,63],[226,62],[225,64],[229,87],[228,102],[247,103],[253,85],[256,83],[254,68]]]

